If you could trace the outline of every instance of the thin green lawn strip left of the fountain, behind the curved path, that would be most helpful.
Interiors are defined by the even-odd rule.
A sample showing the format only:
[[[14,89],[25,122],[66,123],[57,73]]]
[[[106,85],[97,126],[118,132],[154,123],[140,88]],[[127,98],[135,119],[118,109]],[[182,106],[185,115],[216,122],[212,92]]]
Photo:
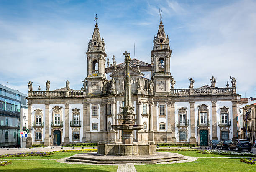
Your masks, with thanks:
[[[85,151],[74,151],[74,152],[56,152],[56,154],[46,155],[46,156],[28,156],[28,157],[9,157],[9,158],[1,158],[1,159],[55,159],[55,158],[65,158],[70,157],[75,154],[87,153]],[[88,152],[89,153],[89,152]],[[92,152],[90,152],[92,153]]]

